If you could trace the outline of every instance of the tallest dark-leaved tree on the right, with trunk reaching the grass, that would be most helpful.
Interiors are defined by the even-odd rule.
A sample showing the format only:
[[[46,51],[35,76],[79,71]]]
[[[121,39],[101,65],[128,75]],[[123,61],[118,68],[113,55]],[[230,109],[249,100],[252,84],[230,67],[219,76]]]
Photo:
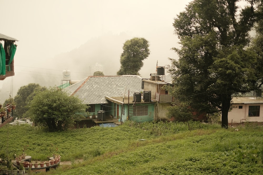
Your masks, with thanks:
[[[232,96],[255,90],[262,82],[258,57],[249,48],[250,31],[262,2],[250,0],[195,0],[174,19],[181,48],[173,48],[179,60],[171,60],[169,72],[180,102],[200,112],[222,112],[222,127],[228,126]],[[245,1],[241,1],[245,2]]]

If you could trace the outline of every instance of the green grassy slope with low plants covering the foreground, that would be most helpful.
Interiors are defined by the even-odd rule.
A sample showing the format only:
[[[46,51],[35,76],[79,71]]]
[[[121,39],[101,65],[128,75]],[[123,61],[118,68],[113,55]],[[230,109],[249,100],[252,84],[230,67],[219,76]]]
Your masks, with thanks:
[[[4,126],[0,144],[10,158],[28,145],[32,161],[51,157],[53,145],[62,161],[73,162],[39,174],[261,174],[262,127],[235,131],[199,122],[191,122],[191,127],[127,121],[114,128],[48,132]]]

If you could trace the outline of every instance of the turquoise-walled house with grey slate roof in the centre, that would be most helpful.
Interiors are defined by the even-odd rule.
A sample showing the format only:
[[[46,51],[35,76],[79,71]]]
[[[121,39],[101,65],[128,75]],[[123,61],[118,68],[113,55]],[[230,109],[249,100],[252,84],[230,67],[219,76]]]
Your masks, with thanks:
[[[103,111],[106,118],[121,116],[122,121],[127,117],[134,121],[153,121],[154,101],[132,102],[134,93],[142,91],[141,79],[136,75],[89,76],[64,90],[89,105],[91,114]]]

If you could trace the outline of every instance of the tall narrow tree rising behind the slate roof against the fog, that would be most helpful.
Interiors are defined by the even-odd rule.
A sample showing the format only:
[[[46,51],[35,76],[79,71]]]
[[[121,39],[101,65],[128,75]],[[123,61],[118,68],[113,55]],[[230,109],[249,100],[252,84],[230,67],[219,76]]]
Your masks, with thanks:
[[[150,55],[149,41],[144,38],[133,38],[123,44],[120,56],[120,69],[117,75],[140,75],[143,60]]]

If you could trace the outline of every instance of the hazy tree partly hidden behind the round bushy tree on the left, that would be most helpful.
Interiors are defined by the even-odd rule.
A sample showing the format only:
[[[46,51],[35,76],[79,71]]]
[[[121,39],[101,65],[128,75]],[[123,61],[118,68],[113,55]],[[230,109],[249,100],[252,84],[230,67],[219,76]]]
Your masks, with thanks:
[[[17,104],[16,115],[21,118],[23,114],[27,111],[27,98],[34,92],[37,88],[43,88],[39,84],[29,83],[26,86],[22,86],[18,89],[17,95],[14,97],[14,101]],[[44,88],[46,89],[46,88]]]

